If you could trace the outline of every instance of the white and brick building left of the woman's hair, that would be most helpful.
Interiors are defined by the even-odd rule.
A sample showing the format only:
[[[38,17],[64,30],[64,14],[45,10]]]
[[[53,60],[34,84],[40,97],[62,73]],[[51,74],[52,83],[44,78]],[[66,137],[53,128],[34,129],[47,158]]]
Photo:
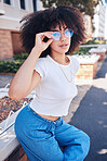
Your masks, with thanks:
[[[0,59],[24,52],[19,40],[19,21],[41,9],[39,0],[0,0]]]

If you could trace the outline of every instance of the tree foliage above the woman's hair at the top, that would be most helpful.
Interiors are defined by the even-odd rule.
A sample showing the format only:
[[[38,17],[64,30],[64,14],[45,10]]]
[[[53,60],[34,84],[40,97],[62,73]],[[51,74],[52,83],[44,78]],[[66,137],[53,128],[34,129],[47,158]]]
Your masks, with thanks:
[[[70,4],[75,8],[78,8],[80,12],[90,15],[93,17],[94,15],[94,8],[102,0],[41,0],[44,8],[50,8],[53,5],[59,4]]]

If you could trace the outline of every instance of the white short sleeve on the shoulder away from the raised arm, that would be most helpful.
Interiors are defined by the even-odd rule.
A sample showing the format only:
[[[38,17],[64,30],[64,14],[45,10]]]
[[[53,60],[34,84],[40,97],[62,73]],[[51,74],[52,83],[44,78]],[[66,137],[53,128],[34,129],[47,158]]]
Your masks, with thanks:
[[[71,57],[71,64],[72,64],[72,72],[76,75],[76,73],[78,72],[80,67],[80,62],[75,55]]]

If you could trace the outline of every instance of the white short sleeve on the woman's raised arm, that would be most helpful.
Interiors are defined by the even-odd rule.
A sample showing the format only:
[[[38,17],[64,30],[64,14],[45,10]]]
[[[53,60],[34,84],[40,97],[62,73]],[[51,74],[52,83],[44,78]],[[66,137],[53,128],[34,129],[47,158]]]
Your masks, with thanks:
[[[36,70],[36,72],[38,72],[40,74],[42,79],[45,77],[46,67],[45,67],[45,63],[44,63],[44,58],[38,59],[35,70]]]

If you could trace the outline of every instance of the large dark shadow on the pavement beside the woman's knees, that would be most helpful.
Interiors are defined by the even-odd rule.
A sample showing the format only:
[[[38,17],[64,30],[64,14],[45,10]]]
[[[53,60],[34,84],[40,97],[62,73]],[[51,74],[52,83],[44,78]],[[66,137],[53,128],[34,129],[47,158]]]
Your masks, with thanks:
[[[107,161],[107,92],[92,86],[69,124],[84,131],[91,138],[85,161]]]

